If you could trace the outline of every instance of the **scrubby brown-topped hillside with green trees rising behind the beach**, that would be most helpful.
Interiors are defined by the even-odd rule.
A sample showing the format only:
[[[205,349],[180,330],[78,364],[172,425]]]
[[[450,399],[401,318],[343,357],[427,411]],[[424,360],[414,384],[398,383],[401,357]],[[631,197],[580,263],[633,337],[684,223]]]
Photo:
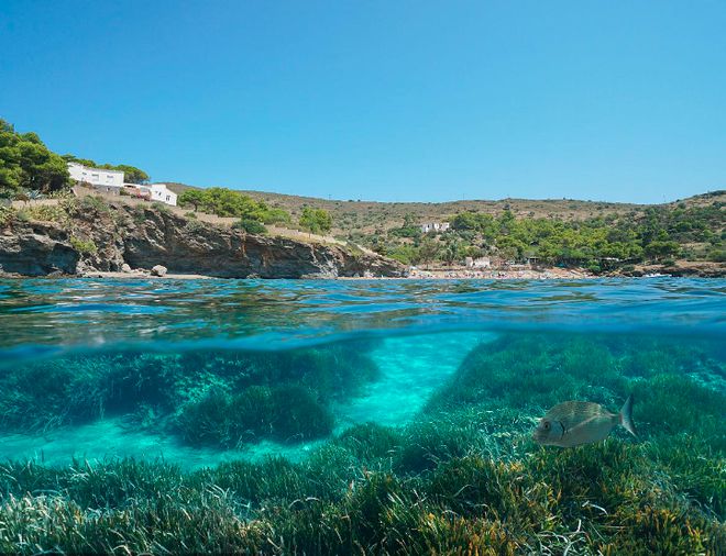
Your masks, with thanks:
[[[176,184],[177,191],[189,186]],[[206,190],[208,191],[208,190]],[[714,191],[661,204],[571,199],[452,201],[442,203],[324,200],[240,191],[292,214],[332,215],[332,234],[406,265],[451,267],[487,257],[514,264],[585,267],[600,274],[638,264],[674,268],[679,262],[724,266],[726,192]],[[450,222],[447,231],[422,233],[421,224]],[[721,274],[722,270],[718,270]]]

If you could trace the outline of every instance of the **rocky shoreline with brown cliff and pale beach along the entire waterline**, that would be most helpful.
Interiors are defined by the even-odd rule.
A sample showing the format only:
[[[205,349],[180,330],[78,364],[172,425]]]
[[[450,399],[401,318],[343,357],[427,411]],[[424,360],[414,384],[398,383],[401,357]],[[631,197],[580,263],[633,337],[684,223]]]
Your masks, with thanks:
[[[52,218],[0,222],[0,276],[94,278],[411,278],[587,279],[600,277],[724,278],[723,263],[679,260],[595,275],[583,268],[407,268],[356,248],[254,235],[151,205],[76,199]],[[163,273],[154,273],[154,267]]]

